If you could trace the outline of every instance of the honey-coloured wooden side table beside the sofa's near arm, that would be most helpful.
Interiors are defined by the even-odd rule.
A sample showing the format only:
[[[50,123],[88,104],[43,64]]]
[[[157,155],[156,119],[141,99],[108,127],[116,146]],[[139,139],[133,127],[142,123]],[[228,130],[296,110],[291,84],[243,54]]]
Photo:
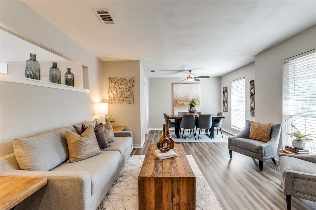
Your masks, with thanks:
[[[46,184],[46,177],[0,177],[0,210],[14,208]]]

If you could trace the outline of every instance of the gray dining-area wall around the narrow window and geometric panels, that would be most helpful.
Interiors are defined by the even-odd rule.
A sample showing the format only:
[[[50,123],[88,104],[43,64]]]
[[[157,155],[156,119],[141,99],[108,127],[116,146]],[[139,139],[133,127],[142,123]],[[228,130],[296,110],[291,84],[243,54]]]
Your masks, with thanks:
[[[250,116],[250,80],[255,79],[255,63],[248,64],[244,67],[236,69],[221,77],[221,88],[228,87],[228,112],[224,112],[225,119],[222,123],[222,128],[231,133],[240,133],[240,131],[231,128],[231,82],[235,79],[245,78],[245,120],[255,121],[255,117]],[[255,96],[256,97],[256,96]],[[255,98],[256,100],[256,98]],[[223,107],[223,96],[219,98],[220,106]],[[255,106],[257,105],[257,101]],[[256,111],[256,110],[255,110]]]

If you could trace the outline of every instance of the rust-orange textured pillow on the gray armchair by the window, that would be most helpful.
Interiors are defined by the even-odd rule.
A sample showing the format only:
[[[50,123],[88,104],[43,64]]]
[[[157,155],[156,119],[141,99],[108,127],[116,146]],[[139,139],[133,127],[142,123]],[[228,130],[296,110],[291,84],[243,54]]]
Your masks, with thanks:
[[[268,142],[270,141],[271,123],[250,122],[249,138]]]

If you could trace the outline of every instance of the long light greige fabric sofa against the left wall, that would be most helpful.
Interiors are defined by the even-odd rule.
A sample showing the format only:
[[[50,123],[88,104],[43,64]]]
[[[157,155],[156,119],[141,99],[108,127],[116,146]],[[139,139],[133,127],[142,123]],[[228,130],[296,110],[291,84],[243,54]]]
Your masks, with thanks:
[[[34,149],[40,148],[37,160],[43,163],[54,163],[62,158],[62,163],[50,171],[21,170],[14,153],[0,157],[0,176],[48,178],[43,188],[18,204],[16,209],[96,209],[131,155],[132,133],[120,131],[114,132],[115,141],[99,155],[66,163],[66,130],[76,132],[73,126],[68,126],[23,139],[37,141]]]

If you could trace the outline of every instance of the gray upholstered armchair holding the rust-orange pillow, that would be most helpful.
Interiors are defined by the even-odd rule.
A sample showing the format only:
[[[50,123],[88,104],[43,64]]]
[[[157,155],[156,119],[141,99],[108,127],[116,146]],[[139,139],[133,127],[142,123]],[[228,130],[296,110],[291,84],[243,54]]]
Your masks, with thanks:
[[[259,160],[259,169],[263,169],[263,161],[271,159],[276,163],[274,158],[277,155],[277,149],[281,134],[281,124],[272,124],[270,141],[262,142],[249,138],[250,120],[246,120],[244,130],[237,136],[228,137],[229,157],[232,158],[232,151],[252,157]]]

